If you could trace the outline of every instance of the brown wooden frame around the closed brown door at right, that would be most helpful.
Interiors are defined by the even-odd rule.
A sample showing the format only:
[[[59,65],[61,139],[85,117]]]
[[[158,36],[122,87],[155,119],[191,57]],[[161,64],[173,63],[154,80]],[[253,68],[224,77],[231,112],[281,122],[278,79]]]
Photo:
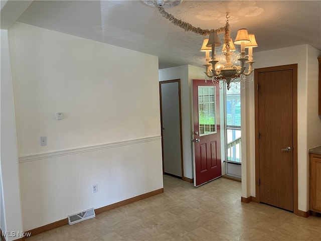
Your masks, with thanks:
[[[297,173],[297,64],[281,65],[274,67],[259,68],[254,70],[254,86],[258,84],[258,74],[263,72],[279,71],[279,70],[292,70],[292,122],[293,122],[293,213],[301,216],[298,210],[298,173]],[[258,90],[254,91],[255,101],[255,133],[258,133]],[[260,188],[258,179],[260,176],[259,168],[259,146],[258,138],[255,137],[255,197],[252,201],[260,202]]]

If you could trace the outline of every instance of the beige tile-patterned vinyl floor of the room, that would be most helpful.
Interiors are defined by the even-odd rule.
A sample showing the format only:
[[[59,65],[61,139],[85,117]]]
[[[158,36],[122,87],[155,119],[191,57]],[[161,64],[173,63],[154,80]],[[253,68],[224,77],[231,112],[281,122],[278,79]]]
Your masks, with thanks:
[[[321,240],[321,217],[242,203],[241,183],[219,178],[195,188],[164,176],[164,193],[26,238],[26,241]]]

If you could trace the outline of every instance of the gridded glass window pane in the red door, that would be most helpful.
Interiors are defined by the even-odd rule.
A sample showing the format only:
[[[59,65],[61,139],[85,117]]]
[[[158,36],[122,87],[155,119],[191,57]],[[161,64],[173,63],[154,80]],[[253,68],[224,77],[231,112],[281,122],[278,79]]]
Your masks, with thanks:
[[[216,133],[216,86],[198,86],[200,136]]]

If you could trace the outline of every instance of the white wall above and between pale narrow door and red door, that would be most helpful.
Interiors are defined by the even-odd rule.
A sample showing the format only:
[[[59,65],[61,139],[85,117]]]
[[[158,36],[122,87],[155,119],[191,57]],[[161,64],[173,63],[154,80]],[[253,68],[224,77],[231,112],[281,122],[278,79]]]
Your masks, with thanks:
[[[183,164],[184,176],[188,178],[193,178],[191,80],[204,78],[204,69],[192,65],[183,65],[159,70],[159,81],[181,79]]]

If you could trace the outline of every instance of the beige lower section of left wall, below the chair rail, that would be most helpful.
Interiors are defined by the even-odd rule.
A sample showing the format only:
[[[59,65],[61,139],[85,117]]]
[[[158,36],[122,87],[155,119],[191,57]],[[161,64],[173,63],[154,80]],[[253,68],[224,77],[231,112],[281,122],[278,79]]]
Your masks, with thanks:
[[[154,137],[29,156],[19,164],[24,230],[163,188],[161,145],[161,137]]]

